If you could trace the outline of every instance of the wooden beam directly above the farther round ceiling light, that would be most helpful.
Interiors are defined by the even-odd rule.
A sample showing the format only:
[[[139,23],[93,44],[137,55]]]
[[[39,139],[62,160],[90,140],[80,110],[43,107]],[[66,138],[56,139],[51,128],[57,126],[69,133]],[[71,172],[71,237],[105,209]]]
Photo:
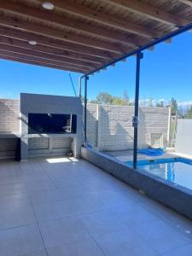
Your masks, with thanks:
[[[1,18],[0,18],[1,19]],[[53,39],[45,37],[42,35],[34,34],[32,32],[23,32],[15,30],[14,28],[8,26],[1,26],[0,23],[0,35],[8,38],[19,39],[20,41],[27,42],[30,40],[35,40],[38,44],[44,45],[45,47],[51,47],[55,50],[69,51],[70,53],[85,55],[87,58],[92,58],[96,60],[106,61],[114,58],[118,58],[119,54],[112,54],[103,49],[92,49],[89,46],[73,44],[61,41],[59,39]],[[68,54],[68,53],[67,53]]]

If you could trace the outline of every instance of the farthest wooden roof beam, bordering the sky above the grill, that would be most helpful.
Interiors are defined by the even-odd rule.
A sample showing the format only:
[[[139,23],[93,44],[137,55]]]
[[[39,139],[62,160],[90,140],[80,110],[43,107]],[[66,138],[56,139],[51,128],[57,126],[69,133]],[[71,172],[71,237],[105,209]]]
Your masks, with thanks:
[[[16,62],[20,62],[20,63],[23,63],[23,64],[61,69],[61,70],[64,70],[64,71],[71,71],[71,72],[75,72],[75,73],[86,73],[86,72],[83,72],[82,70],[79,70],[79,69],[73,69],[73,68],[65,69],[63,67],[59,67],[59,66],[55,67],[54,65],[44,64],[44,63],[40,63],[38,61],[26,61],[26,60],[22,60],[20,58],[14,58],[14,57],[6,56],[6,55],[0,55],[0,61],[1,61],[1,59],[7,60],[7,61],[16,61]]]

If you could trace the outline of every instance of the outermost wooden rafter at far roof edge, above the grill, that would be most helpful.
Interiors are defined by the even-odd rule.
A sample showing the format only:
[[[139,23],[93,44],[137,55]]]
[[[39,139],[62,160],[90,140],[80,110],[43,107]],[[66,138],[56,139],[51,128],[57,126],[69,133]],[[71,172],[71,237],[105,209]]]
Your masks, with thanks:
[[[86,71],[82,71],[80,69],[55,66],[55,65],[48,64],[46,62],[40,62],[40,61],[24,60],[22,58],[17,58],[17,57],[13,57],[13,56],[9,56],[9,55],[0,55],[0,59],[8,60],[8,61],[16,61],[16,62],[21,62],[21,63],[26,63],[26,64],[32,64],[32,65],[37,65],[37,66],[41,66],[41,67],[50,67],[50,68],[55,68],[55,69],[68,70],[68,71],[77,72],[77,73],[86,73]]]

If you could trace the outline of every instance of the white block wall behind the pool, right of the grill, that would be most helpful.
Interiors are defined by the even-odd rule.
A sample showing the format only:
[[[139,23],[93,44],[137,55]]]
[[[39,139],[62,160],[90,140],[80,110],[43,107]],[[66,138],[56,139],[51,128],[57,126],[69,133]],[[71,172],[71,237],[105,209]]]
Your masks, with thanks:
[[[169,108],[139,108],[138,148],[150,145],[151,133],[162,133],[167,146],[169,134]],[[132,116],[134,107],[114,105],[87,105],[87,138],[99,150],[133,148]]]

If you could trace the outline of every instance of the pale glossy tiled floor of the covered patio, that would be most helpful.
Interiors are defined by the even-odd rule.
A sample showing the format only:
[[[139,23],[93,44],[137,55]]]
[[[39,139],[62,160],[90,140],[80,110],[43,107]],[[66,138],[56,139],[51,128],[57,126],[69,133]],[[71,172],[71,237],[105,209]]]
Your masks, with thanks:
[[[0,256],[191,256],[192,223],[84,160],[0,162]]]

